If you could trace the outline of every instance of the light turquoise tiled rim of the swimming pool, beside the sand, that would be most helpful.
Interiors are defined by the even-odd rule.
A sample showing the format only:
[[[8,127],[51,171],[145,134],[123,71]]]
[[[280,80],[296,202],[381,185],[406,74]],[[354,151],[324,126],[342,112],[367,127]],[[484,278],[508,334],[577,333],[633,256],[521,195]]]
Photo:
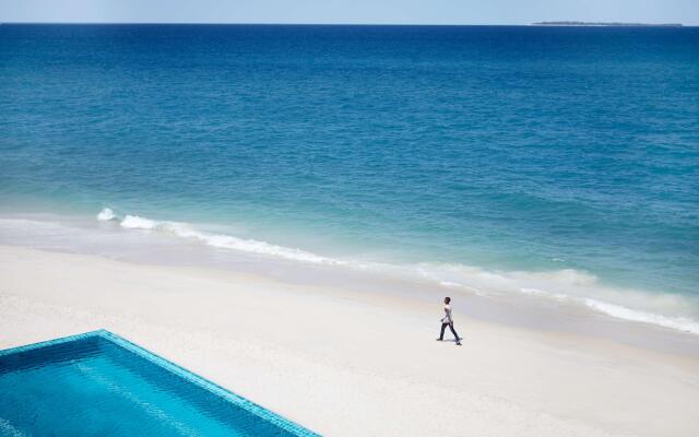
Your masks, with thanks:
[[[106,329],[99,329],[96,331],[90,331],[90,332],[84,332],[81,334],[75,334],[75,335],[69,335],[69,336],[62,336],[62,338],[58,338],[58,339],[54,339],[54,340],[48,340],[48,341],[43,341],[43,342],[38,342],[38,343],[31,343],[31,344],[25,344],[23,346],[16,346],[16,347],[10,347],[10,349],[5,349],[5,350],[1,350],[0,351],[0,357],[1,356],[7,356],[7,355],[12,355],[12,354],[16,354],[16,353],[22,353],[22,352],[26,352],[26,351],[32,351],[32,350],[36,350],[36,349],[42,349],[42,347],[46,347],[46,346],[51,346],[51,345],[57,345],[57,344],[62,344],[62,343],[69,343],[72,341],[76,341],[76,340],[83,340],[83,339],[88,339],[88,338],[94,338],[94,336],[99,336],[104,340],[110,341],[115,344],[117,344],[118,346],[121,346],[139,356],[141,356],[142,358],[145,358],[147,361],[150,361],[151,363],[154,363],[155,365],[164,368],[167,371],[170,371],[181,378],[183,378],[185,380],[194,383],[199,387],[201,387],[202,389],[217,395],[221,398],[224,398],[226,401],[230,402],[232,404],[242,408],[245,410],[247,410],[248,412],[254,414],[256,416],[266,421],[266,422],[271,422],[274,425],[279,426],[280,428],[289,432],[296,436],[299,437],[320,437],[319,434],[316,434],[313,432],[311,432],[310,429],[307,429],[306,427],[298,425],[287,418],[282,417],[281,415],[261,406],[258,405],[257,403],[239,395],[236,394],[221,386],[218,386],[215,382],[210,381],[206,378],[203,378],[190,370],[187,370],[186,368],[166,359],[163,358],[162,356],[154,354],[151,351],[147,351],[139,345],[137,345],[135,343],[132,343],[131,341],[119,336],[117,334],[115,334],[114,332],[107,331]]]

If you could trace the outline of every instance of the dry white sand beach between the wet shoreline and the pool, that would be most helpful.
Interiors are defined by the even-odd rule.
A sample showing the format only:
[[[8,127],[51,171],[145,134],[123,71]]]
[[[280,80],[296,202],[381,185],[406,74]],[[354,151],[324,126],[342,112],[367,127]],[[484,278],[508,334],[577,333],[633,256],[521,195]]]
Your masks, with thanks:
[[[458,347],[440,297],[0,246],[0,349],[104,328],[329,436],[697,435],[699,358],[455,310]]]

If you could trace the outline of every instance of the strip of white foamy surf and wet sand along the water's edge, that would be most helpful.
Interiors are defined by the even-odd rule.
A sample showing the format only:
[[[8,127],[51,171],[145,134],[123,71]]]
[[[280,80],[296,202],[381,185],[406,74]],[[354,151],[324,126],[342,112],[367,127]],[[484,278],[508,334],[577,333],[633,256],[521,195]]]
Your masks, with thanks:
[[[507,272],[465,264],[392,264],[331,258],[206,233],[187,223],[130,215],[119,221],[108,209],[97,218],[2,215],[0,241],[135,264],[234,271],[296,286],[341,288],[430,305],[441,295],[453,295],[459,297],[457,310],[482,321],[699,357],[699,323],[643,310],[643,305],[655,304],[661,305],[659,309],[664,305],[666,310],[692,308],[696,303],[690,297],[675,300],[679,297],[609,288],[582,271]]]

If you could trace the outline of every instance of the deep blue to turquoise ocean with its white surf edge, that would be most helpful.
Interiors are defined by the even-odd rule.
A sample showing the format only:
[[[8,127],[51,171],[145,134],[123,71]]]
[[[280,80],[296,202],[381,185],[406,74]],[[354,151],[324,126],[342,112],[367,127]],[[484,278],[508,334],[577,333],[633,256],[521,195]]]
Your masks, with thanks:
[[[699,28],[0,25],[0,243],[163,241],[699,334]]]

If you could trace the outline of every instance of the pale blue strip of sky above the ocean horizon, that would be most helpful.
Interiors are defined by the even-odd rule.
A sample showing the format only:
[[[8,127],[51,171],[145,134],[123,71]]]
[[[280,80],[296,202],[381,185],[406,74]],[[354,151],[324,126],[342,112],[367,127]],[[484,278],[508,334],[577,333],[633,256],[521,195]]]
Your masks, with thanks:
[[[699,25],[699,0],[0,0],[0,22]]]

